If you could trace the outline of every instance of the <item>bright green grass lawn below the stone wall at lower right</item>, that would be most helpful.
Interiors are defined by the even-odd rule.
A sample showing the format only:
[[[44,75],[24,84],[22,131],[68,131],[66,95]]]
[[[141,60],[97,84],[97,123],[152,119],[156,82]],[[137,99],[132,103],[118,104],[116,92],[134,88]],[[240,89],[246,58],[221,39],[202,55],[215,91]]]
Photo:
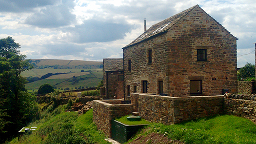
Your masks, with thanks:
[[[137,134],[135,138],[156,132],[185,143],[256,143],[256,125],[246,118],[231,115],[202,118],[177,125],[151,124],[148,127],[149,131]]]

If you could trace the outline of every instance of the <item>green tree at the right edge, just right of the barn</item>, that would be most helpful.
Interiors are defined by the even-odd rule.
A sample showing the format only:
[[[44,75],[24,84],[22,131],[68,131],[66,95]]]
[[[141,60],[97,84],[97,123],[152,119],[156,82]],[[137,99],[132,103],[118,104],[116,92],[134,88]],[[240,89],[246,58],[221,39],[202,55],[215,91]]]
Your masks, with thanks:
[[[238,80],[255,77],[255,65],[246,63],[243,68],[238,71]]]

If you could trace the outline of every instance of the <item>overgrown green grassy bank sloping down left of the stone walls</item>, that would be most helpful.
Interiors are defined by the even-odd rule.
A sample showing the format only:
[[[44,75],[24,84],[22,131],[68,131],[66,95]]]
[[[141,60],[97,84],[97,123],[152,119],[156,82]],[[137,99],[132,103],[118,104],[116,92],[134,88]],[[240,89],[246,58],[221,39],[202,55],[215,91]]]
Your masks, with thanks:
[[[97,131],[92,123],[92,109],[78,115],[77,112],[63,112],[64,107],[45,113],[41,120],[30,124],[39,130],[25,133],[7,143],[108,143],[104,134]]]

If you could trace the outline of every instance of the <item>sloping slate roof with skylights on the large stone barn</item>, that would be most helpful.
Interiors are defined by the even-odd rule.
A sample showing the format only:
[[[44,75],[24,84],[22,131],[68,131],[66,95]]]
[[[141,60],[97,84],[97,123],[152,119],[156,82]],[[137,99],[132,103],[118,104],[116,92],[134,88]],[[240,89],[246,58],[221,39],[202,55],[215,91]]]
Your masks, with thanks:
[[[146,32],[141,34],[139,37],[137,37],[135,40],[133,40],[129,45],[125,46],[123,49],[135,45],[137,43],[142,42],[143,40],[146,40],[148,38],[152,38],[153,36],[156,36],[157,34],[161,34],[164,32],[167,32],[168,29],[170,29],[173,25],[175,25],[180,19],[182,19],[184,16],[186,16],[189,12],[191,12],[196,7],[200,8],[199,5],[195,5],[189,9],[186,9],[178,14],[175,14],[162,22],[159,22],[153,26],[151,26]],[[200,8],[201,9],[201,8]],[[202,9],[203,10],[203,9]],[[203,10],[204,11],[204,10]],[[206,13],[206,12],[205,12]],[[207,13],[206,13],[207,14]],[[207,14],[208,15],[208,14]],[[209,15],[210,16],[210,15]],[[210,16],[211,17],[211,16]],[[212,18],[212,17],[211,17]],[[217,24],[219,24],[222,28],[224,28],[219,22],[217,22],[214,18],[212,18]],[[224,28],[225,29],[225,28]],[[226,29],[225,29],[226,30]],[[226,30],[227,31],[227,30]],[[228,31],[227,31],[228,32]],[[230,33],[230,32],[228,32]],[[237,37],[235,37],[237,38]],[[238,38],[237,38],[238,39]]]

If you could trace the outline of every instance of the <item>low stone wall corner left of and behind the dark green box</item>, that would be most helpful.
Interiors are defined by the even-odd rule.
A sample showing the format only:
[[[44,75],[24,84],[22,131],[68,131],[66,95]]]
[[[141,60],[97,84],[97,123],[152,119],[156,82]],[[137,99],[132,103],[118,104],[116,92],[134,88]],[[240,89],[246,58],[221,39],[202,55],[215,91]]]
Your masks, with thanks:
[[[121,104],[121,100],[94,100],[93,122],[98,130],[111,137],[111,120],[116,117],[130,115],[133,112],[132,104]]]

